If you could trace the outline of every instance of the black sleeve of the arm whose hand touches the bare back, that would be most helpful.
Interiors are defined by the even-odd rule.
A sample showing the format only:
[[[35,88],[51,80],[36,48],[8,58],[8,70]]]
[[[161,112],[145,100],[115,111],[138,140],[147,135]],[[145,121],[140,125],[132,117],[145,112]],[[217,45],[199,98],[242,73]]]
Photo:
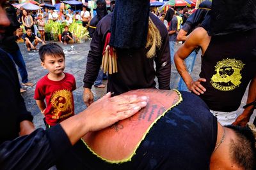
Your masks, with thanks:
[[[61,125],[0,145],[0,169],[48,169],[71,147]]]

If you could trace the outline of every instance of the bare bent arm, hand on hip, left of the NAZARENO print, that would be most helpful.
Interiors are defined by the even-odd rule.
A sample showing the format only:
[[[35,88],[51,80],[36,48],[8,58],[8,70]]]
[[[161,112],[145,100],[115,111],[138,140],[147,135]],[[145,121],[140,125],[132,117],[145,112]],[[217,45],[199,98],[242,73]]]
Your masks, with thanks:
[[[185,43],[180,46],[179,50],[174,55],[174,62],[175,66],[177,67],[177,71],[179,72],[180,76],[182,76],[188,89],[197,95],[204,94],[206,89],[200,84],[200,82],[206,80],[204,78],[199,78],[197,81],[193,81],[188,70],[186,69],[184,59],[186,59],[188,55],[199,46],[201,47],[203,54],[210,40],[211,38],[209,38],[207,32],[202,27],[199,27],[189,34]]]

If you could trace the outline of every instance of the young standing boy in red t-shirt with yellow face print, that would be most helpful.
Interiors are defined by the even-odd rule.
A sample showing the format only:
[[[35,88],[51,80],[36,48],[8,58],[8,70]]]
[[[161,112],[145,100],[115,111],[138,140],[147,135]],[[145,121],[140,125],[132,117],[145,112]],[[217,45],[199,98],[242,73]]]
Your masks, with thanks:
[[[74,115],[72,91],[76,89],[76,80],[72,74],[63,72],[65,54],[56,43],[41,46],[39,56],[41,65],[49,73],[36,84],[34,98],[49,128]]]

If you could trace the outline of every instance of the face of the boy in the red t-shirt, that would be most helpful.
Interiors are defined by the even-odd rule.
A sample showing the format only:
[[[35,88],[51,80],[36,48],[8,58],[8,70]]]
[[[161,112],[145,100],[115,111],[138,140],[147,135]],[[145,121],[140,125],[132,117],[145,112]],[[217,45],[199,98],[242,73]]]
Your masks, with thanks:
[[[41,62],[41,65],[51,74],[62,74],[65,69],[65,59],[60,56],[45,55],[44,62]]]

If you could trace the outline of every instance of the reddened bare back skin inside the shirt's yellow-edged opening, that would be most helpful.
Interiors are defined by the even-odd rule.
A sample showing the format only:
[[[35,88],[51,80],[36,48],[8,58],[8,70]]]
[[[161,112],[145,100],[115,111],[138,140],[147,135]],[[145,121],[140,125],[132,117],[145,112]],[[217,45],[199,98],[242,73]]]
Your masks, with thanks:
[[[147,106],[131,118],[83,137],[93,152],[107,160],[120,161],[131,157],[150,125],[180,99],[177,92],[172,90],[140,89],[121,95],[126,94],[148,96]]]

